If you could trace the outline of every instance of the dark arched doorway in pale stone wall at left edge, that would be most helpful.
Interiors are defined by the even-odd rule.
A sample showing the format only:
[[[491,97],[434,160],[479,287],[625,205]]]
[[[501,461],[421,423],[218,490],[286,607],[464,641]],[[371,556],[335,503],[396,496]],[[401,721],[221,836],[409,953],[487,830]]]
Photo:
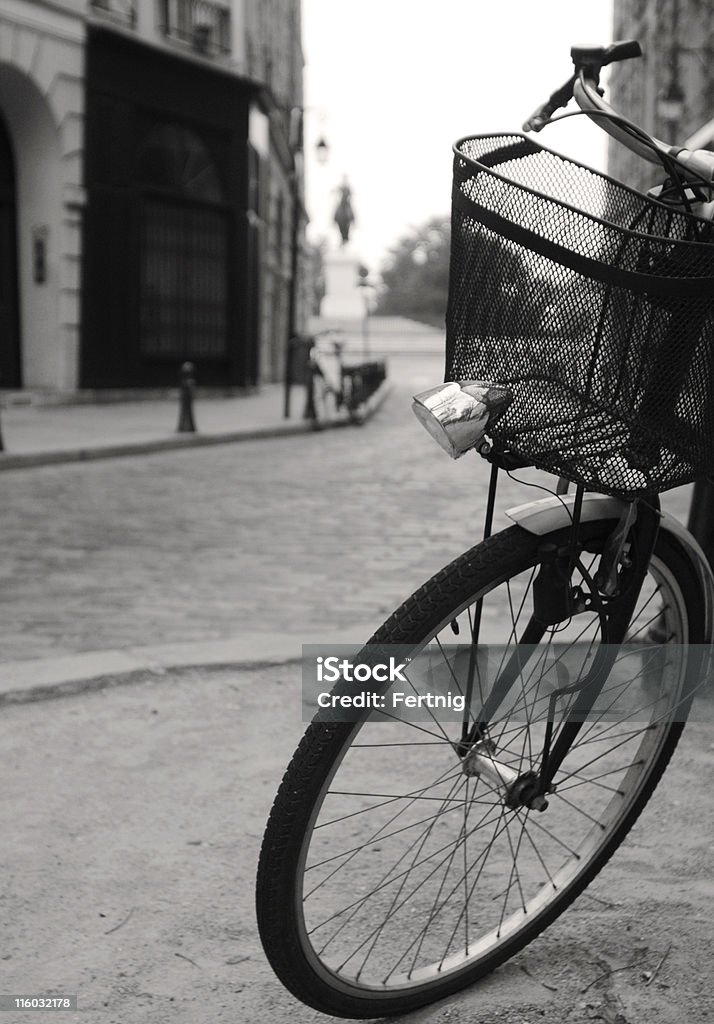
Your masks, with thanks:
[[[22,387],[14,155],[0,117],[0,387]]]

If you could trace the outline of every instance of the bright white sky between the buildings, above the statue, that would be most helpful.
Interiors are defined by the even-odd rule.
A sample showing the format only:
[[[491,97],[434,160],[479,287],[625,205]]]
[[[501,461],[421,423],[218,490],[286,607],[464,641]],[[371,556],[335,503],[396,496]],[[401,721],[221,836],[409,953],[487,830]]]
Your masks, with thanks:
[[[355,250],[376,271],[412,225],[448,213],[453,142],[520,131],[570,76],[574,43],[612,41],[612,0],[302,0],[309,238],[346,175]],[[314,157],[323,135],[326,165]],[[571,118],[538,136],[604,168],[606,136]]]

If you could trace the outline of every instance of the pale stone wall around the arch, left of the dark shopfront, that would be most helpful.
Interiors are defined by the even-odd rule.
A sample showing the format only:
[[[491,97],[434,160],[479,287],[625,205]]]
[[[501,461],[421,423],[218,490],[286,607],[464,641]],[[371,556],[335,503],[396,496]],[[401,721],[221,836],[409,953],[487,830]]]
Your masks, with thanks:
[[[77,4],[0,11],[0,111],[15,157],[23,383],[77,384],[84,207],[84,22]],[[35,247],[46,276],[36,280]]]

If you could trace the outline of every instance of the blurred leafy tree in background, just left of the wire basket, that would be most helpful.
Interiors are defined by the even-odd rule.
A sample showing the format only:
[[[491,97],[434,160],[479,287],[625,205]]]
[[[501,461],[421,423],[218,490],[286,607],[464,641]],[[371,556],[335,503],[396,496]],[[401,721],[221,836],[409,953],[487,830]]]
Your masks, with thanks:
[[[448,217],[434,217],[413,228],[394,246],[381,269],[377,302],[380,315],[444,327],[449,294]]]

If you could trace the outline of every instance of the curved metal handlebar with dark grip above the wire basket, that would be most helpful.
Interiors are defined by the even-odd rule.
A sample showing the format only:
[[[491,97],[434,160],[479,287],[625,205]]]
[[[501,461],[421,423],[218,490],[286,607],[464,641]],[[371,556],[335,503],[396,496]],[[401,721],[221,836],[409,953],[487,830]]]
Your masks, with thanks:
[[[602,68],[641,54],[642,49],[634,39],[621,40],[610,46],[574,46],[571,57],[575,74],[531,115],[523,124],[523,131],[540,131],[551,121],[557,110],[566,106],[571,98],[575,98],[581,111],[637,156],[656,164],[675,161],[685,178],[714,184],[714,153],[707,150],[686,150],[663,142],[633,121],[622,117],[602,98],[599,87]]]

